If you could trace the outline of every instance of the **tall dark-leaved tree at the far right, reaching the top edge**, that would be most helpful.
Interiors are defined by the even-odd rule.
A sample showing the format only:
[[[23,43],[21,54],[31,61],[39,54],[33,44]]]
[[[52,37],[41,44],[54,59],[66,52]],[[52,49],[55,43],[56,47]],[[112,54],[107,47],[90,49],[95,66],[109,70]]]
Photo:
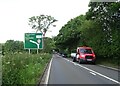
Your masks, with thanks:
[[[91,2],[89,11],[86,13],[88,20],[99,23],[99,34],[102,40],[96,50],[102,57],[119,57],[120,52],[120,3],[119,2]],[[96,29],[96,30],[97,30]],[[98,36],[98,34],[96,34]],[[100,40],[100,36],[98,40]],[[101,43],[100,43],[101,42]],[[94,42],[93,42],[94,44]],[[100,48],[100,50],[99,50]]]

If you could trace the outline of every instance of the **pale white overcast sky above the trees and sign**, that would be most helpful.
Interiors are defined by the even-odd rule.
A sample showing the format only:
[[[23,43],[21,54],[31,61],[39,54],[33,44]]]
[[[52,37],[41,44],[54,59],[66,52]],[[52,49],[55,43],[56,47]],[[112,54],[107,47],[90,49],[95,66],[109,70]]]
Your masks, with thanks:
[[[64,24],[88,11],[90,0],[0,0],[0,43],[6,40],[24,41],[24,33],[33,33],[28,19],[40,14],[58,21],[46,36],[56,36]],[[52,31],[52,32],[50,32]]]

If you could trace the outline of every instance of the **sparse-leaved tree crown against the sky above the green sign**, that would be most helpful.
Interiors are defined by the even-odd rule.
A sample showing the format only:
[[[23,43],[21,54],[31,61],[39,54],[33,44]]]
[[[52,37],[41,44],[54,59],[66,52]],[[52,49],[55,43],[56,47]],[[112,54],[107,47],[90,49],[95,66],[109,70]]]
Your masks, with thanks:
[[[48,15],[33,16],[29,18],[29,25],[32,29],[35,29],[36,32],[40,31],[43,33],[43,36],[45,36],[49,27],[56,21],[57,20],[54,17]]]

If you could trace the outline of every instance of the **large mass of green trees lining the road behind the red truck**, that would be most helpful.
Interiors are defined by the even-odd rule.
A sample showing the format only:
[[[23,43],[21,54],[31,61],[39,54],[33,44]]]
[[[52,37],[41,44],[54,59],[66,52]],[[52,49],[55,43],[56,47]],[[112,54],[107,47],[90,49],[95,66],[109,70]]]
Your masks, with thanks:
[[[98,58],[119,59],[120,3],[90,2],[86,15],[68,21],[55,37],[59,49],[90,46]]]

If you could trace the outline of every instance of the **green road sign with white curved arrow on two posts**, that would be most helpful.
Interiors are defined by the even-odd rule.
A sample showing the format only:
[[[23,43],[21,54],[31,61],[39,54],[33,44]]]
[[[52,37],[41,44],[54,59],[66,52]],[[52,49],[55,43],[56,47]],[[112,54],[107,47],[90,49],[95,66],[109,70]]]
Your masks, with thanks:
[[[25,33],[25,49],[42,49],[43,38],[42,33]]]

